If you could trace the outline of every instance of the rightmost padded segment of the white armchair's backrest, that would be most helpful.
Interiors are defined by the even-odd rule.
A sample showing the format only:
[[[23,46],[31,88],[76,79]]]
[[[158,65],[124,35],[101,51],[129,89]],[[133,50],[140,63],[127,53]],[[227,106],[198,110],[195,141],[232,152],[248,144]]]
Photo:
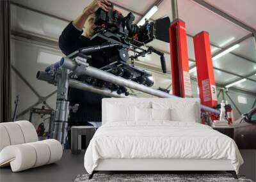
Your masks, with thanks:
[[[15,121],[14,123],[17,123],[20,126],[24,135],[25,143],[38,141],[36,129],[32,123],[29,121]]]

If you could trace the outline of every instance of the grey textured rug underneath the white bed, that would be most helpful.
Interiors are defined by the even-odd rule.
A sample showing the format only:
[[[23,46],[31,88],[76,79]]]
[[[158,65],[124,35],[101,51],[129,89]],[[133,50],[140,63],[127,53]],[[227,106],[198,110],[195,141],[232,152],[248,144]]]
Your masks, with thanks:
[[[209,182],[253,182],[251,179],[246,179],[244,176],[238,176],[239,179],[234,179],[231,174],[94,174],[92,179],[88,179],[88,174],[78,175],[75,182],[94,182],[94,181],[136,181],[136,182],[190,182],[190,181],[209,181]]]

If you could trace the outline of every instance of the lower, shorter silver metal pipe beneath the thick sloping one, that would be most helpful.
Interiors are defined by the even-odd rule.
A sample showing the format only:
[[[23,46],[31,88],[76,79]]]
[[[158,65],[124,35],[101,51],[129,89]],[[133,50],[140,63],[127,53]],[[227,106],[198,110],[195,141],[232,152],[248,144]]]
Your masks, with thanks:
[[[97,87],[93,87],[90,84],[86,84],[84,82],[79,82],[77,80],[73,80],[70,79],[68,80],[68,84],[70,87],[76,88],[76,89],[81,89],[84,91],[90,91],[92,93],[98,93],[100,95],[106,95],[106,96],[111,96],[111,97],[116,97],[116,98],[132,98],[131,96],[125,96],[124,94],[122,95],[118,95],[115,92],[111,92],[110,89],[106,89],[106,88],[97,88]]]

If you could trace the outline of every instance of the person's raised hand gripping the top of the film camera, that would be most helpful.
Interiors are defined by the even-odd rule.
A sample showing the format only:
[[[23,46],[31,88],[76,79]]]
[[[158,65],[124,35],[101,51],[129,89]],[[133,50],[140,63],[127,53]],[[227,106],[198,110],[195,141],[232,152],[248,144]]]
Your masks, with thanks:
[[[110,5],[111,4],[108,0],[93,0],[92,3],[84,9],[84,11],[89,14],[95,13],[99,8],[102,8],[104,11],[108,11]]]

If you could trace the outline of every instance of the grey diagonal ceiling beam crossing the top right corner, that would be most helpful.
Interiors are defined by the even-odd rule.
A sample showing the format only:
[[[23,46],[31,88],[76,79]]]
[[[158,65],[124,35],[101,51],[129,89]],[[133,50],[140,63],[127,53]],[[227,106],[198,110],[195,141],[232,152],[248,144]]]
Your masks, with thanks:
[[[246,29],[246,31],[249,31],[251,33],[256,33],[256,30],[253,29],[253,27],[250,27],[246,24],[244,24],[243,22],[235,19],[234,17],[231,17],[230,15],[228,15],[227,13],[225,13],[224,11],[219,10],[218,8],[215,8],[214,6],[212,6],[209,3],[206,3],[205,1],[202,0],[193,0],[196,3],[200,4],[201,6],[204,6],[205,8],[207,8],[208,10],[213,11],[214,13],[220,15],[221,17],[223,17],[224,19],[229,20],[230,22],[233,22],[234,24],[236,24],[239,27],[242,27],[243,29]]]

